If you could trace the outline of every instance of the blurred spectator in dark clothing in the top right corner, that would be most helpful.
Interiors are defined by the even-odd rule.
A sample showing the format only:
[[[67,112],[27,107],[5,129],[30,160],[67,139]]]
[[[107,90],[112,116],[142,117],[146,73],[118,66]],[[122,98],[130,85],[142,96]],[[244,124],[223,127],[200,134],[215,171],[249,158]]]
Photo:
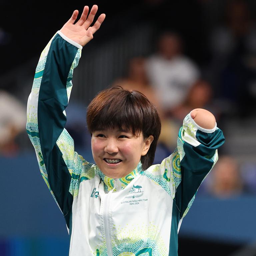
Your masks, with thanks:
[[[256,26],[246,1],[229,2],[225,22],[213,30],[210,45],[210,72],[223,109],[227,110],[227,114],[239,113],[240,117],[254,113]]]

